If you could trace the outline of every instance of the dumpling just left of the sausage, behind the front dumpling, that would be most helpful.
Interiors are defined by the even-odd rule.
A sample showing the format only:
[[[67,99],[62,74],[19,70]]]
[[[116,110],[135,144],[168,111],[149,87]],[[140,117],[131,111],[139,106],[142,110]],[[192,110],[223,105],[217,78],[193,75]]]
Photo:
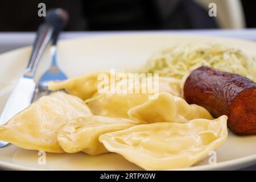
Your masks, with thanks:
[[[204,107],[189,105],[183,98],[162,92],[155,95],[155,99],[148,100],[128,111],[131,119],[154,122],[184,123],[191,119],[213,119]]]

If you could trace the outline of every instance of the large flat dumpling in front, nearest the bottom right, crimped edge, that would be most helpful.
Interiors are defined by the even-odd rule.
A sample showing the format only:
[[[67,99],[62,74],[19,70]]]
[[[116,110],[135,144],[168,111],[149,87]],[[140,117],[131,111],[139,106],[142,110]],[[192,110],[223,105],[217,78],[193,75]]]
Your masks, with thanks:
[[[101,135],[111,152],[147,170],[190,167],[224,144],[228,117],[187,123],[151,123]]]

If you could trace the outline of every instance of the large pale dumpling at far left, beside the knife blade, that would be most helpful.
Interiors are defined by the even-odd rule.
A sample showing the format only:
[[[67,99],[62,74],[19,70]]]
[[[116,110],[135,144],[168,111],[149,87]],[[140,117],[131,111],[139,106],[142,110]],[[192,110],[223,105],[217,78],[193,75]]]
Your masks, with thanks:
[[[64,92],[39,98],[0,126],[0,140],[18,147],[53,153],[64,152],[57,133],[68,121],[91,115],[84,102]]]

